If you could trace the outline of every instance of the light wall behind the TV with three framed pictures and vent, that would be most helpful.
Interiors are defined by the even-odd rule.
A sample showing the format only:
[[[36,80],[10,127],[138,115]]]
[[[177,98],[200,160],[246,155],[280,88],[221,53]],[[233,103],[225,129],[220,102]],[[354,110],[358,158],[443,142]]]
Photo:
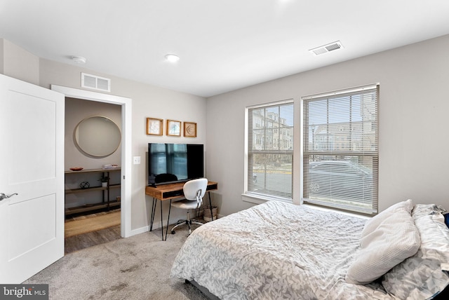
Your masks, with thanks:
[[[81,89],[81,72],[111,79],[111,93],[133,101],[133,156],[140,156],[141,164],[133,165],[133,186],[131,200],[131,229],[139,231],[149,224],[152,198],[145,196],[146,156],[149,142],[170,142],[206,145],[206,99],[165,88],[128,81],[116,76],[101,74],[86,68],[70,64],[61,64],[40,59],[40,86],[50,88],[51,84]],[[197,123],[197,137],[150,136],[146,134],[147,117],[173,119]],[[164,125],[165,126],[165,125]],[[168,212],[168,201],[163,203]],[[159,205],[158,205],[159,210]],[[160,214],[156,214],[155,226],[160,224]],[[164,216],[166,218],[166,215]],[[172,210],[171,221],[185,219],[185,210]],[[165,220],[164,220],[165,221]]]

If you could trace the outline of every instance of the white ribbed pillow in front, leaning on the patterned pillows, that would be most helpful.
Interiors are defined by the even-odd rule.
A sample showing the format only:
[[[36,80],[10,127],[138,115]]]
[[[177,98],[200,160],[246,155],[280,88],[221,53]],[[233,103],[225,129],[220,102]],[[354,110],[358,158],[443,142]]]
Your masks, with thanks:
[[[361,250],[347,270],[346,281],[364,285],[380,278],[413,256],[420,243],[420,233],[410,212],[402,207],[361,238]]]

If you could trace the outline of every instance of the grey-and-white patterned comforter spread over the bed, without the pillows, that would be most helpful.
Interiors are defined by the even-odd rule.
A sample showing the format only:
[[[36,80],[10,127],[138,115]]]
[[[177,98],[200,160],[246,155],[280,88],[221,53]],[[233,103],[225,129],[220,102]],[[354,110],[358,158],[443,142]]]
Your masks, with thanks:
[[[220,299],[396,299],[344,280],[365,221],[269,201],[193,231],[171,275]]]

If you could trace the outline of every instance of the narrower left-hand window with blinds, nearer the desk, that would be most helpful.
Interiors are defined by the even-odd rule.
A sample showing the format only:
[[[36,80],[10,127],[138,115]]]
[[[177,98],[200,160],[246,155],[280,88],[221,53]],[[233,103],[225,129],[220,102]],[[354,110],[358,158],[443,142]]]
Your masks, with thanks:
[[[246,193],[293,200],[293,100],[246,109]]]

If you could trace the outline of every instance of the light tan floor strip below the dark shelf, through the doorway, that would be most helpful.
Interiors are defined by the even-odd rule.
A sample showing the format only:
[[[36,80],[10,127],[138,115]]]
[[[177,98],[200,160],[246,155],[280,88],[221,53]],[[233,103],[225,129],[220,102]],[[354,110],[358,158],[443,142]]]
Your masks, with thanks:
[[[98,231],[120,224],[120,210],[65,222],[65,238]]]

